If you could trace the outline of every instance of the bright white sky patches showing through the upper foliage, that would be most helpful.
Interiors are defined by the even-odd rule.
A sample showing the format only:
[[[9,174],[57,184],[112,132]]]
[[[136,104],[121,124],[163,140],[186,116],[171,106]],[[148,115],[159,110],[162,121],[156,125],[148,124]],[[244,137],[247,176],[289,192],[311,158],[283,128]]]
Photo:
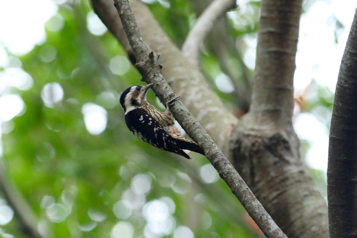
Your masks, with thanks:
[[[11,119],[22,115],[26,110],[21,97],[14,94],[12,88],[28,90],[36,80],[21,69],[21,61],[16,56],[31,51],[35,45],[44,44],[46,41],[45,23],[51,17],[51,21],[46,24],[47,29],[51,31],[62,29],[64,23],[62,17],[56,14],[58,8],[56,4],[64,1],[0,1],[0,67],[5,69],[0,72],[0,136],[1,133],[10,132],[14,126]],[[238,2],[240,4],[238,14],[244,15],[251,11],[246,5],[248,0]],[[312,81],[326,86],[332,93],[335,91],[338,69],[357,0],[305,1],[305,4],[310,4],[310,7],[301,17],[294,86],[296,97],[305,95],[308,99],[315,97],[317,93],[316,90],[312,90],[306,95],[305,89],[311,85]],[[341,27],[335,31],[336,19],[341,23]],[[87,27],[95,35],[105,32],[105,28],[93,12],[87,16]],[[244,60],[249,67],[253,68],[256,39],[254,36],[247,36],[245,41],[250,49],[246,52]],[[43,61],[49,62],[56,57],[56,50],[50,46],[45,48],[40,56]],[[114,65],[122,60],[121,56],[117,56],[111,60],[110,64]],[[121,71],[117,72],[119,67],[113,67],[113,69],[115,74],[122,74]],[[124,68],[120,70],[127,71]],[[224,76],[219,75],[217,81],[220,82],[217,86],[222,91],[232,91],[233,85]],[[45,85],[41,96],[47,107],[53,107],[61,102],[64,93],[59,81]],[[326,97],[330,94],[327,91]],[[298,106],[295,111],[299,112]],[[97,135],[105,130],[107,112],[104,108],[88,102],[83,106],[82,113],[89,133]],[[313,114],[303,112],[296,115],[294,126],[298,136],[311,143],[311,148],[307,152],[308,164],[313,168],[326,171],[328,128],[324,123],[330,121],[331,113],[320,107],[315,108]],[[1,151],[0,145],[0,156]]]

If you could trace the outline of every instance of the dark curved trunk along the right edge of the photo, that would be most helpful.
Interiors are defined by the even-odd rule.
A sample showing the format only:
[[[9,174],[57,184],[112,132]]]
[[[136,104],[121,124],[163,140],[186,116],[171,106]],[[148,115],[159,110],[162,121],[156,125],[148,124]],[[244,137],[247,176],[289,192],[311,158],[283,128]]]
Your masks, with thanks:
[[[328,146],[331,238],[357,237],[357,10],[343,53]]]

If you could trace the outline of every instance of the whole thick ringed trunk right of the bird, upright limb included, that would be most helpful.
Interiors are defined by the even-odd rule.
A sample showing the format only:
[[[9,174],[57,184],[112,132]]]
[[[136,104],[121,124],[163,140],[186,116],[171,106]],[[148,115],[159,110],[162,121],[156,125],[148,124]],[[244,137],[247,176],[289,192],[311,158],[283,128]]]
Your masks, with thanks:
[[[327,238],[326,202],[301,161],[291,121],[301,5],[262,1],[252,104],[231,148],[235,168],[289,238]]]

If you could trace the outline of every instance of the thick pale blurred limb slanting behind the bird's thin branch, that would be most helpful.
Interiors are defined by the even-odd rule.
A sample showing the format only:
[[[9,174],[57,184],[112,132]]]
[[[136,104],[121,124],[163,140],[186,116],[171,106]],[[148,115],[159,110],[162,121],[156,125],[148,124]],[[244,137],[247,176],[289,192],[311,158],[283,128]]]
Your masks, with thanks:
[[[111,12],[113,5],[109,6],[107,2],[112,0],[91,0],[92,5],[97,9],[109,7],[105,12]],[[140,0],[130,0],[132,11],[137,16],[137,25],[141,29],[141,34],[145,42],[147,42],[154,51],[160,54],[160,62],[165,65],[162,69],[166,81],[171,88],[181,96],[181,100],[185,103],[190,112],[196,117],[197,121],[206,129],[212,139],[217,143],[221,150],[230,155],[229,149],[229,134],[233,125],[237,124],[238,120],[227,110],[220,98],[207,85],[206,79],[200,72],[197,66],[190,64],[186,57],[183,57],[182,52],[171,42],[169,37],[162,31],[161,27],[152,16],[150,10]],[[97,11],[104,12],[104,10]],[[109,18],[108,15],[98,15],[106,24],[107,21],[117,21],[119,15],[114,18]],[[111,20],[110,20],[111,19]],[[121,24],[106,25],[110,27],[113,34],[125,35],[121,28]],[[117,37],[118,40],[120,40]],[[123,41],[120,40],[123,44]],[[125,44],[125,42],[124,42]],[[205,108],[205,110],[203,110]]]

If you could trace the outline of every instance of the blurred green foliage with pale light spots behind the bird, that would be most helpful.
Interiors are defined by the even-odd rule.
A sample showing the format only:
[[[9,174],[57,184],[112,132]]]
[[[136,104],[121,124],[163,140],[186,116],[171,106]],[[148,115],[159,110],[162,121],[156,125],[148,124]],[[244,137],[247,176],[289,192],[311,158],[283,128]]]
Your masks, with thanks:
[[[197,18],[192,4],[188,0],[149,4],[179,47]],[[228,21],[229,34],[241,52],[246,49],[242,37],[257,31],[260,2],[247,4],[250,14]],[[134,66],[126,67],[126,54],[109,32],[90,33],[90,2],[67,1],[58,7],[49,22],[63,19],[63,27],[58,31],[47,27],[46,41],[20,57],[33,86],[27,91],[11,89],[21,96],[25,109],[7,122],[14,128],[2,136],[9,176],[39,218],[40,231],[61,238],[190,238],[189,230],[196,238],[262,237],[216,171],[204,169],[209,163],[205,157],[191,153],[193,159],[188,161],[131,134],[119,97],[125,88],[141,83],[140,74]],[[233,109],[234,94],[215,85],[222,72],[215,53],[208,46],[203,53],[203,73]],[[240,64],[238,69],[246,67],[229,57],[232,64]],[[122,68],[121,73],[113,67]],[[55,90],[58,85],[53,83],[58,83],[63,96],[57,101],[47,98],[52,101],[48,105],[45,88]],[[153,92],[148,101],[161,106]],[[86,128],[88,103],[105,112],[107,124],[98,135]],[[312,110],[321,104],[331,107],[331,98],[321,97],[306,107]],[[0,228],[0,235],[6,237],[5,231],[26,237],[18,225],[13,218]]]

